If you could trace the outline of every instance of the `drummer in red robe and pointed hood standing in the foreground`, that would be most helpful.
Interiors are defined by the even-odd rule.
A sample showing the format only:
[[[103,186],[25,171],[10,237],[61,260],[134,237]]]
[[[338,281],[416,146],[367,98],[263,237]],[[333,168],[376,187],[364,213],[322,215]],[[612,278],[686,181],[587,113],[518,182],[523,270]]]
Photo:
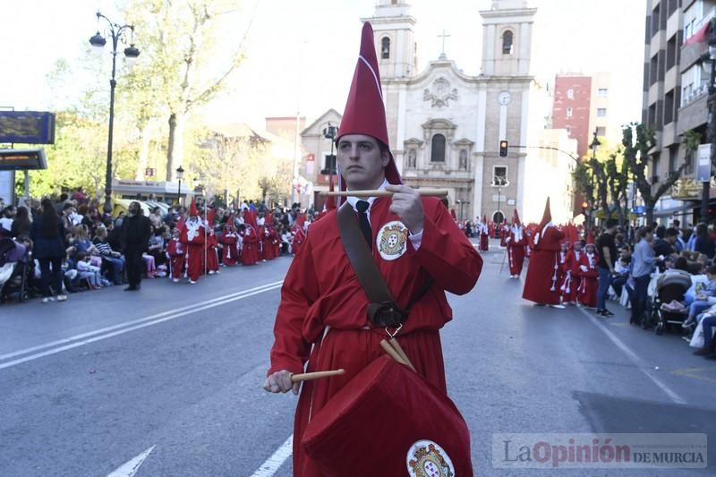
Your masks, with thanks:
[[[378,62],[370,23],[363,26],[361,57],[337,137],[339,189],[386,190],[392,198],[348,197],[372,259],[394,300],[405,307],[414,298],[409,316],[397,328],[396,340],[417,372],[439,392],[447,393],[439,329],[452,319],[445,292],[466,294],[482,269],[482,258],[444,205],[421,198],[401,185],[388,149],[388,128],[380,91]],[[430,285],[431,284],[431,285]],[[427,293],[418,294],[427,288]],[[303,432],[314,416],[371,362],[384,355],[380,341],[388,329],[368,318],[368,297],[348,260],[338,229],[337,212],[311,226],[296,253],[281,290],[274,327],[275,342],[264,389],[298,394],[293,373],[344,369],[342,376],[305,381],[294,420],[294,475],[325,475],[304,452]],[[396,383],[399,386],[399,383]],[[429,412],[429,410],[426,410]],[[388,416],[376,415],[376,420]],[[371,429],[371,422],[363,423]],[[396,425],[400,425],[399,422]],[[350,441],[353,436],[346,435]],[[444,439],[450,439],[444,436]],[[371,443],[395,447],[390,435],[376,434]],[[408,449],[392,453],[405,470]],[[455,459],[456,456],[453,456]],[[370,460],[371,456],[366,455]],[[469,461],[469,456],[465,457]],[[340,459],[340,455],[336,456]],[[388,463],[386,463],[388,464]],[[344,469],[341,475],[358,475]],[[388,473],[397,475],[399,473]],[[372,473],[378,475],[378,473]],[[470,471],[461,473],[472,475]]]

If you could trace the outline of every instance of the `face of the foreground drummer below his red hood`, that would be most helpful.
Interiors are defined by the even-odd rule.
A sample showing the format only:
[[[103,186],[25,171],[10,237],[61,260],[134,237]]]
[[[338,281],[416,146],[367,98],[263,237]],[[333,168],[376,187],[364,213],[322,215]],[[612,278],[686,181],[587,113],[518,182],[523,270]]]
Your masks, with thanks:
[[[381,154],[371,136],[346,134],[338,141],[338,168],[348,189],[377,189],[389,161],[388,152]]]

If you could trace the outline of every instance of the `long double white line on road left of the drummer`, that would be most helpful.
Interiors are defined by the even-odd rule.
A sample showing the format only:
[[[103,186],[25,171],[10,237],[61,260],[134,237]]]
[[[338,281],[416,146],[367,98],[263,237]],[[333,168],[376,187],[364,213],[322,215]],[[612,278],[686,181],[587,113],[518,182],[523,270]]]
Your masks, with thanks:
[[[268,292],[270,290],[274,290],[278,287],[280,287],[283,284],[283,282],[275,282],[273,284],[268,285],[262,285],[257,286],[256,288],[251,288],[249,290],[244,290],[243,292],[237,292],[235,294],[227,294],[225,296],[220,296],[218,298],[214,298],[212,300],[208,300],[206,302],[200,302],[196,305],[187,306],[184,308],[179,308],[175,310],[170,311],[164,311],[161,313],[157,313],[155,315],[151,315],[149,317],[141,318],[141,319],[134,319],[132,321],[127,321],[125,323],[120,323],[118,325],[107,327],[107,328],[101,328],[95,331],[91,331],[89,333],[83,333],[81,335],[76,336],[70,336],[68,338],[64,338],[62,340],[57,340],[52,343],[48,343],[47,345],[39,345],[39,346],[33,346],[31,348],[27,348],[25,350],[21,350],[15,353],[9,353],[4,354],[3,356],[0,356],[0,360],[7,359],[9,357],[18,356],[21,354],[27,354],[32,353],[33,351],[37,351],[39,349],[45,349],[47,347],[50,347],[47,351],[43,351],[41,353],[33,353],[28,356],[24,356],[22,358],[18,358],[16,360],[10,361],[10,362],[3,362],[0,363],[0,370],[4,370],[5,368],[10,368],[11,366],[15,366],[17,364],[21,364],[22,362],[29,362],[33,360],[37,360],[38,358],[42,358],[45,356],[49,356],[51,354],[55,353],[61,353],[63,351],[77,348],[82,345],[88,345],[90,343],[94,343],[96,341],[101,341],[107,338],[110,338],[112,336],[119,336],[124,335],[124,333],[129,333],[130,331],[134,331],[135,329],[140,328],[146,328],[153,325],[157,325],[159,323],[163,323],[165,321],[169,321],[171,319],[176,319],[183,317],[185,315],[192,314],[196,311],[203,311],[203,310],[209,310],[210,308],[215,308],[217,306],[221,306],[223,304],[229,303],[229,302],[235,302],[236,300],[242,300],[243,298],[248,298],[250,296],[253,296],[255,294],[261,294],[264,292]],[[167,316],[168,315],[168,316]],[[113,331],[115,330],[115,331]],[[86,336],[92,336],[88,337],[87,339],[82,339]],[[77,341],[77,340],[81,341]],[[72,343],[74,342],[74,343]],[[62,345],[64,343],[71,343],[69,345]],[[51,347],[55,345],[61,345],[58,347]]]

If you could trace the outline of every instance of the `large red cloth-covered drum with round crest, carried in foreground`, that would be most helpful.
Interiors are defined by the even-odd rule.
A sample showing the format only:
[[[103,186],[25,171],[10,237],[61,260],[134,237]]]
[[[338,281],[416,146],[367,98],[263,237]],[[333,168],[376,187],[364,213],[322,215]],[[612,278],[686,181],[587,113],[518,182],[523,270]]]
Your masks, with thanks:
[[[333,396],[301,445],[327,476],[473,475],[470,431],[456,406],[388,356]]]

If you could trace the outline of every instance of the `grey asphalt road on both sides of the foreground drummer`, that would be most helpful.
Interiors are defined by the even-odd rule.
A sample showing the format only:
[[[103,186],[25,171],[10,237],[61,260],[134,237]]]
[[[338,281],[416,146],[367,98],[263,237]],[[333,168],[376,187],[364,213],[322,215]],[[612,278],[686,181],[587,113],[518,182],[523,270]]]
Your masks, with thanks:
[[[499,468],[499,433],[716,437],[716,362],[630,327],[617,304],[613,319],[535,308],[501,259],[485,254],[473,291],[449,297],[456,318],[442,333],[476,474],[716,474],[714,439],[708,469]],[[289,264],[0,305],[0,475],[291,475],[280,449],[296,399],[260,388]]]

